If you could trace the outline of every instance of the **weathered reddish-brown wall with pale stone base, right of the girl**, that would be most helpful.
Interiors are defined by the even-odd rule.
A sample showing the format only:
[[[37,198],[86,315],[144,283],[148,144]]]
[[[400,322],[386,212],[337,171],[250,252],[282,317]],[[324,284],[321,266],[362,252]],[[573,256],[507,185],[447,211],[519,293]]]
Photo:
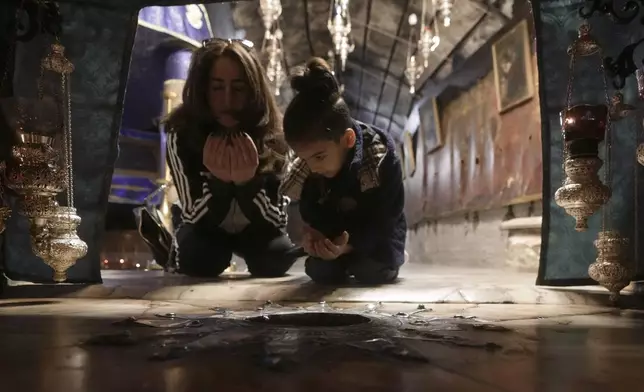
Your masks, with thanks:
[[[416,148],[401,154],[406,167],[408,156],[415,163],[405,173],[410,263],[538,269],[543,159],[536,56],[532,98],[499,113],[489,45],[445,78],[443,89],[426,87],[408,119],[406,129],[418,129]],[[423,117],[428,110],[438,122]],[[443,143],[432,150],[423,140],[433,140],[437,123]]]

